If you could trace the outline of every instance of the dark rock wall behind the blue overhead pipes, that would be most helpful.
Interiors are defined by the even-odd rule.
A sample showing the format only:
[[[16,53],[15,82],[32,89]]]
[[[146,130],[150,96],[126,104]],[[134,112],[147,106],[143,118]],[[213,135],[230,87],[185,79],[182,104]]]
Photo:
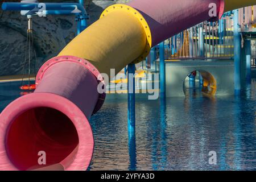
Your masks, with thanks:
[[[89,24],[96,21],[102,11],[114,3],[125,3],[129,0],[120,1],[88,1],[85,0],[86,11],[90,16]],[[16,0],[5,2],[19,2]],[[39,1],[50,2],[50,1]],[[78,2],[61,1],[53,2]],[[1,5],[2,3],[0,3]],[[76,36],[75,15],[47,15],[40,18],[33,16],[34,48],[37,61],[33,57],[32,73],[49,58],[56,56],[67,43]],[[0,76],[20,75],[23,73],[24,59],[26,56],[27,18],[21,16],[18,11],[0,10]],[[25,65],[25,73],[28,63]]]

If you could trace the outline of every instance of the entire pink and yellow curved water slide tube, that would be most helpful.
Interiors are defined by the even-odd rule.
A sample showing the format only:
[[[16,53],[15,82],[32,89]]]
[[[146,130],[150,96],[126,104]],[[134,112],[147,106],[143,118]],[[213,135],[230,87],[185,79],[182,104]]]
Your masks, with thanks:
[[[98,83],[104,84],[100,73],[110,76],[111,68],[118,73],[177,32],[215,20],[210,3],[220,17],[224,7],[237,9],[254,0],[135,0],[108,7],[40,68],[34,93],[2,111],[0,170],[85,170],[94,146],[88,120],[105,99],[97,91]]]

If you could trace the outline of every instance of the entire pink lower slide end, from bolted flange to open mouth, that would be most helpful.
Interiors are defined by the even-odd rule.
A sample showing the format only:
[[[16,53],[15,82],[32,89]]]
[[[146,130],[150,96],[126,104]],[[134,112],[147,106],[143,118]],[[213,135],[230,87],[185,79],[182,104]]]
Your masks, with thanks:
[[[0,115],[0,170],[87,169],[94,146],[88,119],[105,97],[97,92],[99,74],[78,57],[47,61],[35,92]]]

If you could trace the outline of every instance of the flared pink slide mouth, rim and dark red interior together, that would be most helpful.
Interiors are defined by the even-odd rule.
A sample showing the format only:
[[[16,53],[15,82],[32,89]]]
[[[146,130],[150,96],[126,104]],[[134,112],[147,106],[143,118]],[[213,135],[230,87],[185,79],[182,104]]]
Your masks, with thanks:
[[[71,122],[62,123],[63,117],[58,121],[53,115],[43,119],[45,108],[51,108],[48,114],[52,109],[63,113]],[[27,111],[29,115],[24,114]],[[2,111],[0,121],[0,170],[46,167],[38,165],[38,151],[42,150],[46,151],[47,165],[61,164],[65,170],[85,170],[89,166],[94,145],[92,129],[84,113],[67,98],[52,93],[28,94],[11,102]]]

